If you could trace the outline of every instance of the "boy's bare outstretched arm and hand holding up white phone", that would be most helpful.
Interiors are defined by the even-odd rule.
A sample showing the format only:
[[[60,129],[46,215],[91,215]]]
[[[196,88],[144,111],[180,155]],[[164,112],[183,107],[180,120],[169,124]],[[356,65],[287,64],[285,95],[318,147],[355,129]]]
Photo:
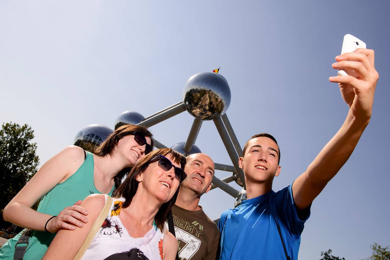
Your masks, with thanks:
[[[374,51],[356,49],[353,53],[337,56],[336,61],[332,65],[333,69],[354,70],[358,78],[329,78],[329,81],[339,83],[342,98],[349,106],[349,111],[340,130],[310,163],[307,170],[294,181],[293,199],[298,209],[308,207],[347,162],[371,119],[374,92],[379,78],[374,66]]]

